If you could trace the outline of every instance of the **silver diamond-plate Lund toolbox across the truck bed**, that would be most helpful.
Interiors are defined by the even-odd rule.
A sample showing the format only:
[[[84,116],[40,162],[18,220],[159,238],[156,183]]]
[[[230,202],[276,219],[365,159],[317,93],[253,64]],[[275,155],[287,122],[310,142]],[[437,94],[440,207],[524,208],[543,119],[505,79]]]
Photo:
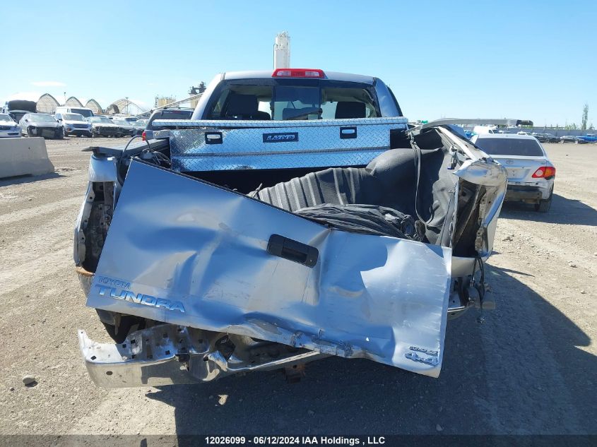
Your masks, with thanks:
[[[156,120],[170,128],[179,172],[366,165],[390,147],[406,118],[311,121]]]

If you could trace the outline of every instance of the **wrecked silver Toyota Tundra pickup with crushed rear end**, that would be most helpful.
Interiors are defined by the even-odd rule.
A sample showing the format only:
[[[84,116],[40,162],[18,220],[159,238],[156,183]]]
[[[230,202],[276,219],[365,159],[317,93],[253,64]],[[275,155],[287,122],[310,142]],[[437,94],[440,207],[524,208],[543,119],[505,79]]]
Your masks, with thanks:
[[[411,128],[377,78],[278,69],[89,148],[74,260],[115,341],[79,331],[93,381],[294,380],[330,355],[437,377],[447,319],[483,304],[507,181],[449,123]]]

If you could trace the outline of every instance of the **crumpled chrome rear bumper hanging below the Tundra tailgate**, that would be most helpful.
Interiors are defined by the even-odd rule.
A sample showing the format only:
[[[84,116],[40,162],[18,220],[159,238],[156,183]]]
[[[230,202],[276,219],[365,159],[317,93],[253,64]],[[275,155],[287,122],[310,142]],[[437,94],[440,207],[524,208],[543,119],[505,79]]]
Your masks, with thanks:
[[[221,335],[218,335],[218,337]],[[247,371],[290,368],[329,357],[309,350],[246,362],[215,349],[206,331],[163,324],[131,333],[121,344],[97,343],[84,330],[78,340],[90,378],[104,388],[201,383]]]

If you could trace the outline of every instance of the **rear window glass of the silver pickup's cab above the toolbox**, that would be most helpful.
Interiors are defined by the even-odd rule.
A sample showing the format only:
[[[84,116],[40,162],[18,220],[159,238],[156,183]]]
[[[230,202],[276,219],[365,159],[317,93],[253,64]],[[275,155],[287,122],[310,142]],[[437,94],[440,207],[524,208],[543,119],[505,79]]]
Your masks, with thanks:
[[[381,116],[372,85],[313,79],[227,81],[206,119],[348,119]]]

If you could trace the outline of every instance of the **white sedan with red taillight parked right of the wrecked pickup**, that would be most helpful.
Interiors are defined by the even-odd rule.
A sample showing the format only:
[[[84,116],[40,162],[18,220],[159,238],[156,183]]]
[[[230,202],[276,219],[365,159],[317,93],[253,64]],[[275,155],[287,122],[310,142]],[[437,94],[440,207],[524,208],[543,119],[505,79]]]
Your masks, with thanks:
[[[471,141],[506,168],[506,201],[533,203],[536,211],[549,211],[555,167],[534,136],[485,133],[473,136]]]

